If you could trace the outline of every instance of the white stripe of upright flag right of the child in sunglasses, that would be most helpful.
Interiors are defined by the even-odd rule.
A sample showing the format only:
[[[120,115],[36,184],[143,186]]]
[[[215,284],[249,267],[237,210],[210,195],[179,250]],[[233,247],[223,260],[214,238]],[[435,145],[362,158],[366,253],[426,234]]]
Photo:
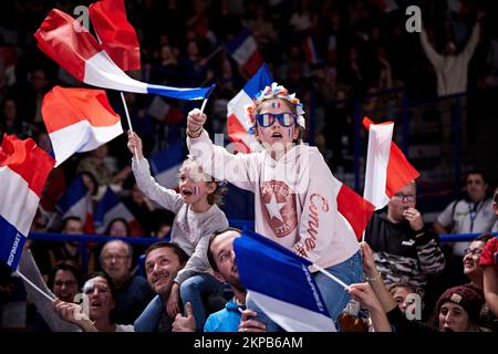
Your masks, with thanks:
[[[363,197],[376,209],[382,209],[390,201],[385,190],[393,127],[394,123],[370,126]]]

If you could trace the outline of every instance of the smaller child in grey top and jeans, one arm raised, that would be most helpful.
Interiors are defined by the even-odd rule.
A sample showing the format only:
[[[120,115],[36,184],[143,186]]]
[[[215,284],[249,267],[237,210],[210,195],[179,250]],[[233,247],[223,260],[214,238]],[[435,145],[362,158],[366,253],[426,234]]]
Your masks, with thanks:
[[[167,313],[170,319],[175,319],[180,312],[180,300],[184,309],[186,303],[190,302],[196,329],[201,331],[206,322],[203,298],[221,293],[224,290],[222,284],[207,272],[210,269],[207,246],[216,230],[228,227],[227,217],[218,207],[226,187],[204,174],[193,158],[187,158],[179,169],[179,192],[164,188],[151,176],[148,162],[143,156],[142,140],[132,132],[128,132],[128,149],[132,154],[135,154],[136,149],[136,156],[132,158],[132,169],[138,188],[148,198],[176,215],[170,240],[178,243],[190,257],[175,278]]]

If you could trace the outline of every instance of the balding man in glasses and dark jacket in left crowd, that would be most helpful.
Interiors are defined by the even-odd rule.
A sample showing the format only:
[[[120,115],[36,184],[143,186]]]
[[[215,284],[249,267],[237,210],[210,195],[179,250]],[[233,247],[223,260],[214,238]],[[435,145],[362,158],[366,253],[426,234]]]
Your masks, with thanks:
[[[122,240],[108,241],[102,248],[100,261],[116,288],[113,320],[121,324],[133,324],[154,293],[144,277],[132,273],[132,246]]]

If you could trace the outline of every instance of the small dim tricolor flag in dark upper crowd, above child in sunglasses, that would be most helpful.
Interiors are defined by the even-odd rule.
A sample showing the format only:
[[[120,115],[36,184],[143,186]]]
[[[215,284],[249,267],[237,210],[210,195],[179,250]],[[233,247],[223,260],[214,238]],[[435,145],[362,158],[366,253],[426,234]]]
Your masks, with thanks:
[[[242,30],[234,39],[225,43],[234,60],[251,76],[263,63],[258,43],[248,30]]]

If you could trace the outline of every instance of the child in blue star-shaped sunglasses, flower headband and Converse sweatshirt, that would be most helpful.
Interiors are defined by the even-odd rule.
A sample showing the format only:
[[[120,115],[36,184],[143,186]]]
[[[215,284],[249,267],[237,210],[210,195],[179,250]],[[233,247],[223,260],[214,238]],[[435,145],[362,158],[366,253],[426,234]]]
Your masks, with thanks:
[[[309,258],[346,284],[363,281],[360,247],[338,212],[342,184],[317,147],[301,144],[304,111],[295,94],[272,83],[253,97],[246,114],[263,149],[230,154],[215,146],[194,110],[187,118],[187,145],[203,169],[255,192],[256,231]],[[251,148],[255,150],[255,148]],[[350,300],[347,291],[311,269],[325,305],[336,320]],[[260,313],[248,298],[248,308]],[[268,319],[267,331],[278,330]]]

